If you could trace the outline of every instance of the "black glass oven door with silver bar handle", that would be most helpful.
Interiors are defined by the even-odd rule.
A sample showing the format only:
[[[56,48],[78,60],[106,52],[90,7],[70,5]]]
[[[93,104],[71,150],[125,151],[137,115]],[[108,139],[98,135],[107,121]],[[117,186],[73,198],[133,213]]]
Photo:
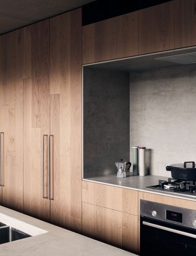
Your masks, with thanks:
[[[141,217],[140,253],[141,256],[196,256],[196,229]]]

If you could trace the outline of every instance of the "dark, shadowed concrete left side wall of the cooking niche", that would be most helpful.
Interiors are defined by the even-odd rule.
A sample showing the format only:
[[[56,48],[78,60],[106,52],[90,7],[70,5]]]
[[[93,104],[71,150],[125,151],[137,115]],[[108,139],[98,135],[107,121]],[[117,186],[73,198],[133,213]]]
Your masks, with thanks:
[[[117,173],[129,161],[129,73],[83,70],[84,178]]]

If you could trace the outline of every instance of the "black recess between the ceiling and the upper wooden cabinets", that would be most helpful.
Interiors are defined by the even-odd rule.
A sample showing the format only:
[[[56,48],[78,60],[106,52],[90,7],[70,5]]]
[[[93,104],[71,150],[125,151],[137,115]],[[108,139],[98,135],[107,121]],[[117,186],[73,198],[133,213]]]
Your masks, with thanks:
[[[82,26],[171,0],[97,0],[82,7]]]

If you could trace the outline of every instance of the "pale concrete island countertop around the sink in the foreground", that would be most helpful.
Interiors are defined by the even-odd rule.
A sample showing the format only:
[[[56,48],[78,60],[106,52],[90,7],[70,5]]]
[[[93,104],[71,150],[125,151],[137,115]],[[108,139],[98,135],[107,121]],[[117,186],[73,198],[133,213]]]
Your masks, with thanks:
[[[76,234],[39,219],[0,206],[0,214],[7,215],[47,233],[0,245],[1,256],[133,256],[108,244]],[[6,216],[6,217],[7,217]],[[1,221],[1,219],[0,219]],[[5,223],[6,224],[6,223]],[[24,223],[22,224],[24,225]]]

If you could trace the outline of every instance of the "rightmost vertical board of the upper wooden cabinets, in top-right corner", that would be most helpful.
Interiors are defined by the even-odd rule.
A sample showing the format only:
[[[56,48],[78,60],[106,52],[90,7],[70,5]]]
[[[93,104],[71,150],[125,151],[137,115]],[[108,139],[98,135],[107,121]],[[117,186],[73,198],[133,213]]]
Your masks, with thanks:
[[[174,0],[174,48],[195,45],[194,0]]]

